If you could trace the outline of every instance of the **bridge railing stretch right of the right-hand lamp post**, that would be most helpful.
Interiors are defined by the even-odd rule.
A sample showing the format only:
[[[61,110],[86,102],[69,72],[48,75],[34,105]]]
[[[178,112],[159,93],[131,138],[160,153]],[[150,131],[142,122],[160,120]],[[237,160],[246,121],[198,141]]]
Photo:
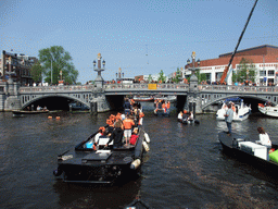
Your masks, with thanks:
[[[278,87],[274,86],[227,86],[227,85],[199,85],[201,91],[237,91],[237,93],[277,93]]]

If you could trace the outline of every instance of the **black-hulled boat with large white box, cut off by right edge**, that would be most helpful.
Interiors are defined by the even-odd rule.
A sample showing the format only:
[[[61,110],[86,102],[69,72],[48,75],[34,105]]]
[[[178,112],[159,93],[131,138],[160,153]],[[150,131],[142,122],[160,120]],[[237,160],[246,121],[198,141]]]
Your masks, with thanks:
[[[228,156],[257,168],[268,174],[277,176],[278,163],[277,158],[278,145],[271,145],[271,151],[268,159],[266,146],[248,140],[245,136],[232,133],[230,136],[226,132],[218,133],[218,139],[222,144],[223,151]],[[276,162],[275,162],[276,161]]]

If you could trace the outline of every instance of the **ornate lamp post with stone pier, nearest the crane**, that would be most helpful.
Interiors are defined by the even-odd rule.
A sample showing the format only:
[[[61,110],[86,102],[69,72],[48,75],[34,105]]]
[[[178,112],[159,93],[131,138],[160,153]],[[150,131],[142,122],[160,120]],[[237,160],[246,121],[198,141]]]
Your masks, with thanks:
[[[201,98],[199,96],[199,89],[198,89],[198,77],[195,75],[195,71],[199,67],[195,67],[195,52],[192,52],[192,67],[189,67],[188,70],[191,71],[191,76],[190,76],[190,84],[189,84],[189,94],[188,94],[188,99],[187,99],[187,106],[189,107],[189,111],[193,111],[193,114],[195,113],[201,113]],[[197,63],[198,66],[200,65],[200,59],[198,59]],[[190,64],[190,60],[187,60],[187,64]]]

